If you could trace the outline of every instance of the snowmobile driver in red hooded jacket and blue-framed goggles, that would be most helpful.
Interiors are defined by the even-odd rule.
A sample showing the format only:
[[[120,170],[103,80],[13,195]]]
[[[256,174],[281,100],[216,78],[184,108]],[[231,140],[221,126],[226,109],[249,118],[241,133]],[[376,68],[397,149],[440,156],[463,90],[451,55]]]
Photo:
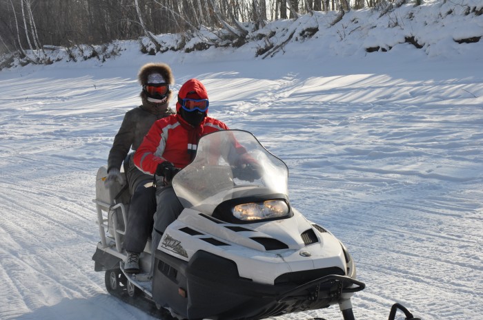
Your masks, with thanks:
[[[204,85],[197,79],[186,81],[179,89],[177,114],[157,120],[135,152],[136,167],[155,175],[156,180],[157,211],[152,231],[152,253],[166,227],[183,211],[172,189],[172,178],[193,161],[201,136],[228,129],[224,122],[208,116],[208,105]],[[139,272],[139,254],[128,252],[124,270]]]

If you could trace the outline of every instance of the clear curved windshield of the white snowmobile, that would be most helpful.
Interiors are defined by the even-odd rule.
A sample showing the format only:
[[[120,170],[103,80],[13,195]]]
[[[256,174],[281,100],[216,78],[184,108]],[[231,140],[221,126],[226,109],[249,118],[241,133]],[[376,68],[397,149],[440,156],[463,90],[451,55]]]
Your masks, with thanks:
[[[195,159],[172,186],[185,208],[211,215],[226,200],[260,194],[288,199],[288,168],[250,132],[216,131],[199,140]]]

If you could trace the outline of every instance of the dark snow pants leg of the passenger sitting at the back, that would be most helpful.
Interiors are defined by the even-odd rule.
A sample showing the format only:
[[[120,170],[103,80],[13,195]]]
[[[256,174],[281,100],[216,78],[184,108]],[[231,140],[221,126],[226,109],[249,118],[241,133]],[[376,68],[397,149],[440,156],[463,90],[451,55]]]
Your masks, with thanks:
[[[132,253],[144,251],[152,231],[153,215],[156,212],[156,188],[152,178],[138,183],[128,211],[128,225],[124,235],[124,249]]]

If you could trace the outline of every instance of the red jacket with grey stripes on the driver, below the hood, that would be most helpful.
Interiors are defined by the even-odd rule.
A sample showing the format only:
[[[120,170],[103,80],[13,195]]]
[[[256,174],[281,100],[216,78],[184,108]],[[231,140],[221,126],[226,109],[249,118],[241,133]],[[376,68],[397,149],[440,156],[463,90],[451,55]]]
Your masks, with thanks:
[[[199,138],[228,127],[206,116],[197,127],[189,125],[179,114],[157,120],[134,155],[134,163],[144,173],[154,174],[158,164],[169,161],[183,169],[193,160]]]

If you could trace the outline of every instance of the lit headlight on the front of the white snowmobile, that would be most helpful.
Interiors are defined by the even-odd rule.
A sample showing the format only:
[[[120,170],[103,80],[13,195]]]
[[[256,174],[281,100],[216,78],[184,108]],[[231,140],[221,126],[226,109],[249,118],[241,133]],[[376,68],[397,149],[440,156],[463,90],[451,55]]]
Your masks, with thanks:
[[[231,211],[237,219],[245,221],[279,218],[289,213],[288,204],[284,200],[238,204]]]

